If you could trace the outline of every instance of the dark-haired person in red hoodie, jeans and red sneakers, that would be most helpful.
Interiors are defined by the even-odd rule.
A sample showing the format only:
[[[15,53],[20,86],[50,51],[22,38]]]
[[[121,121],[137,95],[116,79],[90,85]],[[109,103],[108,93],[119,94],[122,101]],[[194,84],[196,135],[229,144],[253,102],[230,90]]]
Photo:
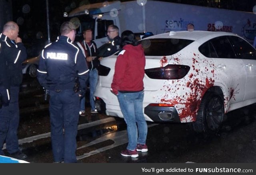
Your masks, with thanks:
[[[138,157],[148,151],[147,123],[143,113],[145,55],[130,30],[122,32],[122,51],[118,54],[111,91],[117,95],[120,109],[127,124],[128,146],[122,156]],[[137,127],[137,125],[138,127]]]

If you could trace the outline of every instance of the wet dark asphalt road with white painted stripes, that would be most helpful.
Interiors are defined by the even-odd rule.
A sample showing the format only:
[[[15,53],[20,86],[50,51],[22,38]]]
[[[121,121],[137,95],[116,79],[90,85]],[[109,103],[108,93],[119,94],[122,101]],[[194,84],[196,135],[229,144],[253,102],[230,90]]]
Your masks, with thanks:
[[[36,79],[24,77],[20,90],[20,147],[31,163],[52,163],[48,101]],[[122,157],[123,119],[102,114],[79,120],[77,159],[81,163],[256,163],[256,105],[228,113],[216,135],[192,132],[188,124],[148,122],[148,153]],[[5,145],[4,145],[5,146]]]

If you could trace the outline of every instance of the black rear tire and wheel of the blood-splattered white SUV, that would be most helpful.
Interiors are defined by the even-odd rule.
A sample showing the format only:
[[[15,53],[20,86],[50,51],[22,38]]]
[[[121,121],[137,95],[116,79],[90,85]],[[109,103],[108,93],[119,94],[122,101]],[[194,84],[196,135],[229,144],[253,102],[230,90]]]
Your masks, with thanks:
[[[224,119],[223,99],[220,95],[206,92],[198,109],[196,121],[190,127],[197,133],[217,133]]]

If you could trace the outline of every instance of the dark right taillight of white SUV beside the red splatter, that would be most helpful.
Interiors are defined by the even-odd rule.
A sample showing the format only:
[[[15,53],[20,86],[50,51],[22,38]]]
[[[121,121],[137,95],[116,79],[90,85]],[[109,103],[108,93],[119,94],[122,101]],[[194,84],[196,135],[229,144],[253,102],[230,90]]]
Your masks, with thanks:
[[[189,66],[179,64],[168,64],[163,68],[151,68],[146,69],[145,73],[149,78],[152,79],[181,79],[190,70]]]

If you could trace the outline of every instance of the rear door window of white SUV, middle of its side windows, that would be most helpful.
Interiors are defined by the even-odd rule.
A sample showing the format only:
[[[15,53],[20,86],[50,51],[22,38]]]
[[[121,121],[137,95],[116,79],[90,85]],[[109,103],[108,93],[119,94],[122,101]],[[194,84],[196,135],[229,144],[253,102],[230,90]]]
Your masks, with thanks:
[[[218,58],[236,58],[234,50],[226,36],[216,37],[210,40]]]

